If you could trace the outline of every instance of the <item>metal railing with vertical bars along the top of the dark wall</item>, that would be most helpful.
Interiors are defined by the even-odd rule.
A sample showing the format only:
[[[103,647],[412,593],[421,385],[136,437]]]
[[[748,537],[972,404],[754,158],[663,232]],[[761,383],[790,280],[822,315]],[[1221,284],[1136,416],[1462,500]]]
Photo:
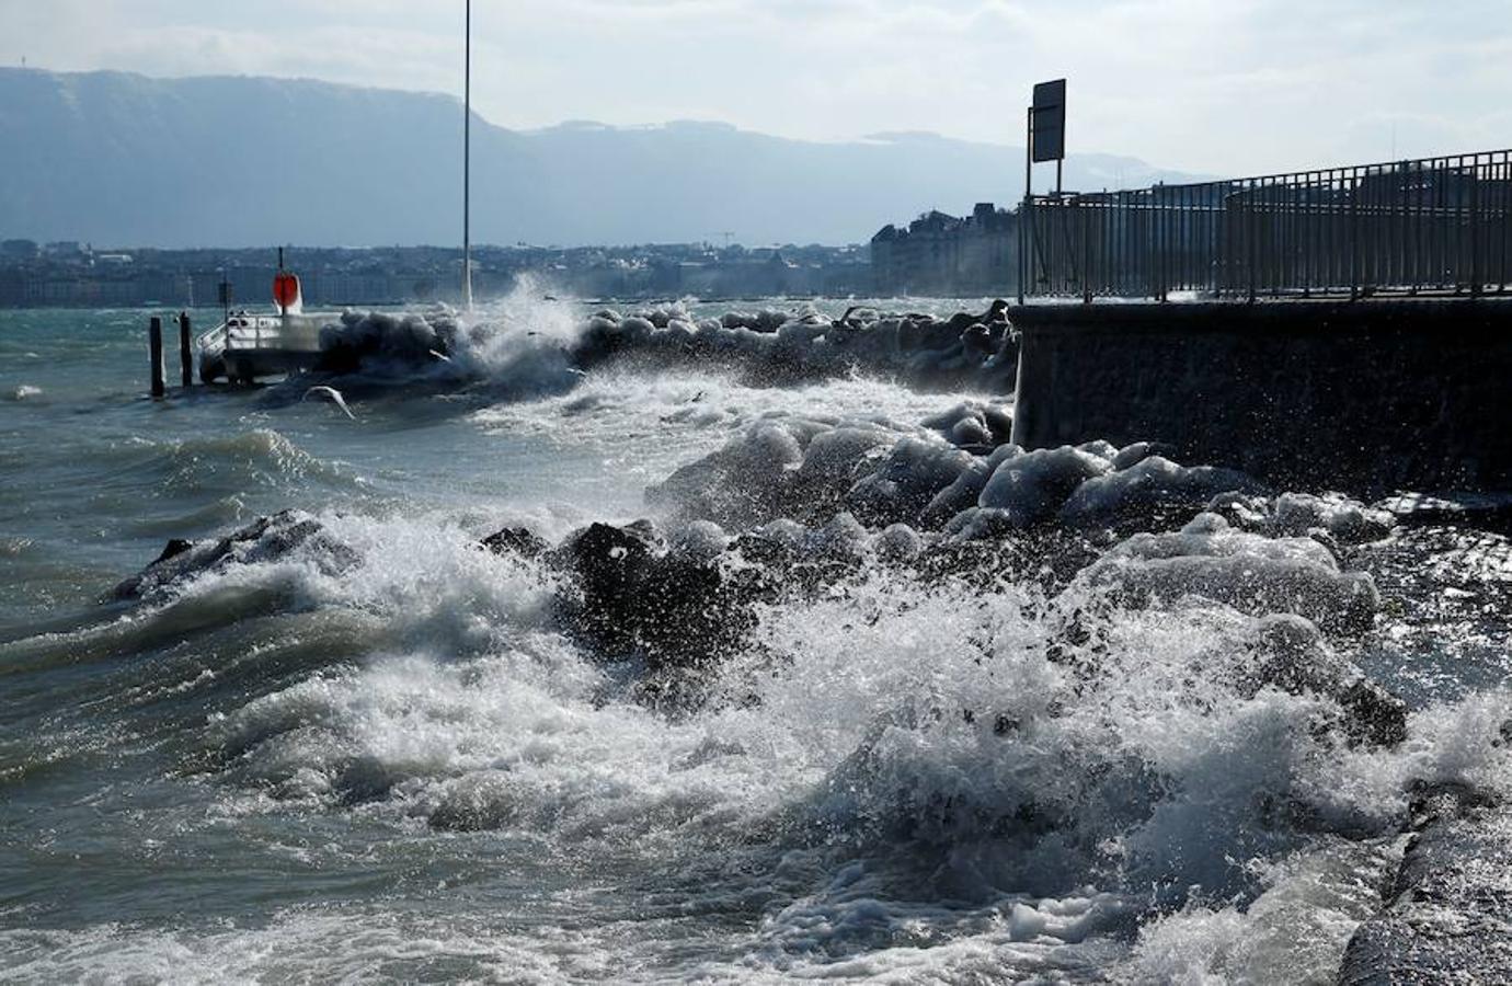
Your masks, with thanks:
[[[1027,296],[1504,293],[1512,151],[1030,195],[1019,236]]]

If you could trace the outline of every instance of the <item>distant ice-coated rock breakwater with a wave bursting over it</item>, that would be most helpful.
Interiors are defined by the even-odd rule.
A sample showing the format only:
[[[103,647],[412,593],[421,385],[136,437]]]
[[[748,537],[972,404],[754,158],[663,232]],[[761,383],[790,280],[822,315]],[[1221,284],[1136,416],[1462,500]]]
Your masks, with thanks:
[[[487,384],[514,395],[570,389],[611,361],[729,367],[761,383],[830,380],[856,372],[919,386],[1012,390],[1018,342],[1007,305],[981,315],[881,315],[851,309],[841,318],[812,305],[697,318],[683,304],[581,318],[562,302],[535,299],[529,286],[478,315],[348,312],[321,331],[316,372],[373,383]],[[959,443],[992,440],[1001,419],[957,417]]]

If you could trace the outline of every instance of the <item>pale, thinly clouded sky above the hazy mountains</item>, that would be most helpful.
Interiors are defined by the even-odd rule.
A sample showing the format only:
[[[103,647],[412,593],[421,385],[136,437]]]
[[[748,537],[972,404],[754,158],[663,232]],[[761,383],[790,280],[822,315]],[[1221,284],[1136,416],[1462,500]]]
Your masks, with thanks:
[[[0,65],[461,94],[464,0],[0,0]],[[1022,145],[1208,174],[1512,145],[1507,0],[473,0],[473,101],[514,129],[718,119]]]

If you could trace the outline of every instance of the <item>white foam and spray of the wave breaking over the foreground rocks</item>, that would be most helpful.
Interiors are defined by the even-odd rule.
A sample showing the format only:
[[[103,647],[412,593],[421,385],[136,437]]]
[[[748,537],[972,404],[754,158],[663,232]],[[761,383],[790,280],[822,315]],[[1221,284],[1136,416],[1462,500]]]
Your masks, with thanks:
[[[1253,677],[1240,641],[1256,623],[1231,608],[1107,611],[1089,640],[1067,637],[1066,619],[1098,611],[1093,596],[974,596],[880,572],[764,609],[759,646],[720,673],[726,700],[667,717],[558,631],[549,573],[479,550],[475,531],[442,516],[324,520],[361,567],[337,578],[283,558],[183,593],[189,603],[277,582],[286,605],[386,626],[381,652],[204,727],[204,747],[225,758],[221,818],[345,809],[399,832],[481,829],[686,868],[689,880],[753,847],[751,876],[711,877],[708,900],[689,900],[762,894],[773,906],[744,936],[677,959],[655,951],[667,942],[647,927],[638,944],[596,927],[541,950],[472,926],[290,913],[266,930],[12,932],[18,972],[67,977],[109,959],[206,980],[423,962],[488,975],[520,962],[553,980],[608,969],[629,948],[647,969],[714,980],[1120,963],[1170,981],[1306,980],[1368,909],[1356,874],[1387,865],[1371,839],[1390,841],[1412,780],[1507,782],[1491,746],[1506,694],[1414,715],[1399,750],[1352,749],[1318,733],[1328,697],[1235,685]],[[1125,553],[1270,552],[1328,567],[1317,544],[1259,547],[1208,525]],[[1222,544],[1185,543],[1204,537]],[[1143,924],[1132,951],[1116,933],[1128,921]]]

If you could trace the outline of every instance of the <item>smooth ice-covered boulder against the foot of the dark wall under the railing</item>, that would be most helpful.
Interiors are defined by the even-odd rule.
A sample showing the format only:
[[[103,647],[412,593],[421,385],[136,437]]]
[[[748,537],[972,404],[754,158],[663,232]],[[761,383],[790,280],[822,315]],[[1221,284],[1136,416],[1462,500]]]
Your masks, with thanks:
[[[1151,522],[1170,511],[1190,511],[1190,517],[1220,493],[1255,493],[1261,488],[1232,469],[1178,466],[1169,458],[1151,455],[1083,482],[1066,501],[1060,519],[1074,526],[1116,526]]]

